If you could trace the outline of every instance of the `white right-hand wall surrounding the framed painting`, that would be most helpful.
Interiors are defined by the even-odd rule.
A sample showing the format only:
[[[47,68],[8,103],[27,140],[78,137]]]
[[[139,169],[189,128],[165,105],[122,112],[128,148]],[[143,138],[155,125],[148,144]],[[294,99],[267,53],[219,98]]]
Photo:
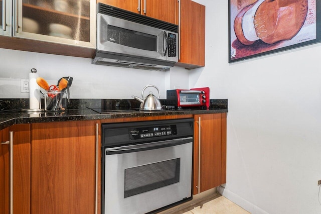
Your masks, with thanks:
[[[206,66],[190,84],[228,98],[223,195],[252,213],[321,213],[321,44],[228,63],[228,1],[206,5]]]

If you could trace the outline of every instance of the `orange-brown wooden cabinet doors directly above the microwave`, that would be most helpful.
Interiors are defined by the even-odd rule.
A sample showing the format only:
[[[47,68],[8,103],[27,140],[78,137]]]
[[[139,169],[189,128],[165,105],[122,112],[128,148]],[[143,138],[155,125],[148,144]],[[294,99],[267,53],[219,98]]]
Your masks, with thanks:
[[[98,2],[169,23],[176,23],[176,0],[98,0]]]

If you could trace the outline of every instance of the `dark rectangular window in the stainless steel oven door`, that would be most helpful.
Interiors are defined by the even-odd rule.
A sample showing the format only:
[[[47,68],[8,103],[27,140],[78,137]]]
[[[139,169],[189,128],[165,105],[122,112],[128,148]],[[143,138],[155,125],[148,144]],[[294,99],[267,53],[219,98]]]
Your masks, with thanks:
[[[125,169],[125,197],[180,181],[180,158]]]

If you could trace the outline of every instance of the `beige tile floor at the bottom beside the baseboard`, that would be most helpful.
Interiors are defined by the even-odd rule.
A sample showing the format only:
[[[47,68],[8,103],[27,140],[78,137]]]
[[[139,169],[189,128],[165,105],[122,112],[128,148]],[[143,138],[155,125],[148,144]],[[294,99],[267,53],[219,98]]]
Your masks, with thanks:
[[[196,206],[195,208],[184,212],[183,214],[249,214],[239,205],[228,200],[224,196],[219,196],[202,205]]]

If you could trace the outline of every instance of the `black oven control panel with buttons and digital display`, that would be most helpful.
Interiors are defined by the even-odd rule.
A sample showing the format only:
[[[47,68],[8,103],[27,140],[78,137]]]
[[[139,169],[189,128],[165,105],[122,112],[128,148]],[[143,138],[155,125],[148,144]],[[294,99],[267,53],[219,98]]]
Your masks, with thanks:
[[[129,129],[129,139],[131,140],[170,136],[170,135],[177,135],[176,125],[152,126],[152,127]]]

